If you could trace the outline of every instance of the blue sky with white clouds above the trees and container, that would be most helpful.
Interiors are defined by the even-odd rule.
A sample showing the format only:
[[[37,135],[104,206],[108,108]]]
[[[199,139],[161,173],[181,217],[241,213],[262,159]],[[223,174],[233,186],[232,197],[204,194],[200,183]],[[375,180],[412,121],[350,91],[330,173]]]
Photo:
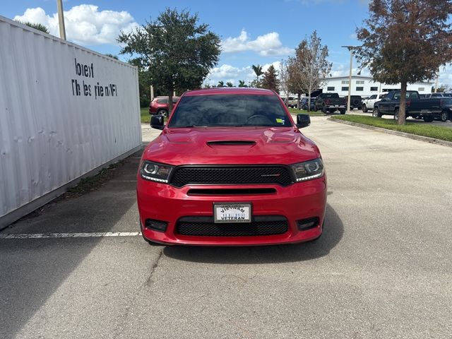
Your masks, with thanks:
[[[3,2],[3,1],[2,1]],[[304,38],[316,30],[329,50],[332,76],[347,76],[350,52],[343,45],[359,45],[355,31],[369,16],[369,0],[64,0],[67,39],[100,53],[119,54],[119,32],[130,32],[155,20],[165,8],[198,13],[222,40],[220,61],[206,83],[255,78],[252,65],[273,64],[294,54]],[[10,19],[42,23],[59,36],[56,0],[5,1],[0,15]],[[119,55],[127,61],[129,55]],[[353,74],[359,65],[353,61]],[[364,69],[362,75],[368,75]],[[452,68],[440,70],[439,83],[452,85]]]

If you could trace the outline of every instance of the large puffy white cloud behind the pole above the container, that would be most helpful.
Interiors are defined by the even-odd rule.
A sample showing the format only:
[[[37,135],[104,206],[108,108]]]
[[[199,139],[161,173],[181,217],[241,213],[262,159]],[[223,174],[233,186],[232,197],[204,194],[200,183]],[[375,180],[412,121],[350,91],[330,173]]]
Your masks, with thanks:
[[[49,28],[50,34],[59,37],[57,13],[47,15],[44,9],[28,8],[23,16],[14,20],[42,23]],[[126,11],[99,11],[95,5],[73,6],[64,11],[64,25],[68,40],[79,44],[117,44],[119,32],[131,32],[138,27],[130,13]]]

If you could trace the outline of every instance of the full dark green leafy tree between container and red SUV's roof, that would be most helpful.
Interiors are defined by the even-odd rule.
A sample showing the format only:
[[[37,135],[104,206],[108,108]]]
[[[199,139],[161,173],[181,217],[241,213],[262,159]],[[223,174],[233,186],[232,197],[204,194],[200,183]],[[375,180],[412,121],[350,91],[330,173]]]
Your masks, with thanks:
[[[138,55],[153,85],[164,88],[172,109],[174,90],[199,88],[218,63],[220,37],[199,24],[197,14],[167,8],[156,20],[133,32],[121,32],[121,54]]]

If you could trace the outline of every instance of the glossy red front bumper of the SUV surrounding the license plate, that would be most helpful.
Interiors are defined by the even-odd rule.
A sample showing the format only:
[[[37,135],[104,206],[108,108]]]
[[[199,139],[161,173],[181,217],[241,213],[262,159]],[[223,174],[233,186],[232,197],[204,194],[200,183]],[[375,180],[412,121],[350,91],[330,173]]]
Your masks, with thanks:
[[[272,194],[261,195],[189,195],[191,189],[274,189]],[[141,232],[145,239],[162,244],[244,246],[305,242],[320,237],[326,210],[326,177],[290,186],[279,185],[187,185],[176,188],[169,184],[150,182],[138,174],[138,210]],[[177,222],[186,218],[213,220],[213,203],[251,203],[253,219],[268,215],[284,217],[287,232],[273,235],[199,236],[177,232]],[[300,231],[297,220],[318,218],[319,222],[308,230]],[[165,232],[145,227],[146,220],[167,222]]]

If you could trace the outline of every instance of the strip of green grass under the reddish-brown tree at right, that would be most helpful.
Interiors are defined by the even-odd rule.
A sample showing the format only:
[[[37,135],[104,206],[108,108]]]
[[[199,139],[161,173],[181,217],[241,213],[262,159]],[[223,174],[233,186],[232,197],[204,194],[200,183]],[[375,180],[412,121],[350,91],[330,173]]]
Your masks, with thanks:
[[[436,138],[445,141],[452,141],[452,129],[448,127],[434,126],[431,124],[424,124],[420,122],[408,122],[404,126],[399,126],[396,120],[383,119],[376,117],[366,117],[363,115],[340,115],[331,117],[332,119],[339,119],[345,121],[356,122],[357,124],[380,127],[382,129],[391,129],[392,131],[400,131],[417,136],[428,136],[429,138]]]

